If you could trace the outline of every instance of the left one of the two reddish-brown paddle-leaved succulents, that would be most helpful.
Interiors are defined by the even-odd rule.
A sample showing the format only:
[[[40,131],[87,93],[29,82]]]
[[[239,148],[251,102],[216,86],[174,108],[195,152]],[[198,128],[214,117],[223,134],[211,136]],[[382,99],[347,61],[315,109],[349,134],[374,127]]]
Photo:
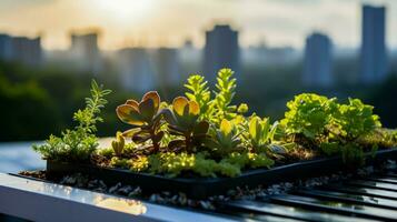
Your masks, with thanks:
[[[127,100],[125,104],[119,105],[116,109],[117,115],[122,122],[132,125],[122,133],[123,137],[131,137],[135,143],[151,140],[152,152],[159,151],[159,142],[165,134],[160,130],[162,121],[159,107],[160,97],[156,91],[147,92],[140,102]]]

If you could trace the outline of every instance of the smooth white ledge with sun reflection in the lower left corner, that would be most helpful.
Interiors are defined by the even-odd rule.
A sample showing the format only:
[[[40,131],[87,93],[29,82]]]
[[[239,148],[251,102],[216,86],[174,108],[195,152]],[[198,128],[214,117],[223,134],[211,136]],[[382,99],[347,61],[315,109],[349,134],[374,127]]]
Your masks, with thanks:
[[[31,221],[234,221],[0,173],[0,213]]]

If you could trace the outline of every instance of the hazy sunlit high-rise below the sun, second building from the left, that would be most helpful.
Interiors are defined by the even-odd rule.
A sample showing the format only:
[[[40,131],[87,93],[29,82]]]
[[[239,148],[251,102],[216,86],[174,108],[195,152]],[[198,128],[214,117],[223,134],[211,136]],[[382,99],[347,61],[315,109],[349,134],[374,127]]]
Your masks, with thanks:
[[[71,33],[70,56],[76,65],[85,71],[96,74],[102,67],[101,54],[98,47],[98,33]]]

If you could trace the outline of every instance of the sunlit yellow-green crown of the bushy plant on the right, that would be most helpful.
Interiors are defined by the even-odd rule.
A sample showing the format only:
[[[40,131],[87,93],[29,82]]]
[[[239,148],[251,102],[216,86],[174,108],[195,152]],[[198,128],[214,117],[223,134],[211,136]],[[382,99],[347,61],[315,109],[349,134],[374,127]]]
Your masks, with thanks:
[[[325,135],[351,141],[380,128],[379,117],[373,114],[374,108],[358,99],[349,99],[348,104],[341,104],[336,99],[302,93],[287,107],[289,111],[281,121],[286,132],[301,133],[310,140]]]

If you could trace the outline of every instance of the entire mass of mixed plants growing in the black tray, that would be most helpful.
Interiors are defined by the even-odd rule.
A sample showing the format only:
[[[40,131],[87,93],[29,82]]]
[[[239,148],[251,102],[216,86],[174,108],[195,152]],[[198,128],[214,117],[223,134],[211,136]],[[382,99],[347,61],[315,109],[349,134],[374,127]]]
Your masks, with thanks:
[[[161,102],[156,91],[140,102],[127,100],[116,111],[131,129],[118,132],[111,148],[100,150],[96,149],[96,124],[102,121],[99,114],[109,91],[92,82],[92,98],[73,115],[79,124],[34,149],[59,161],[88,161],[96,151],[92,160],[103,161],[100,165],[133,172],[237,176],[242,170],[271,168],[282,155],[295,158],[285,149],[291,141],[310,149],[305,153],[340,154],[353,164],[361,164],[369,149],[374,152],[378,145],[397,143],[396,132],[381,130],[374,108],[358,99],[339,103],[335,98],[302,93],[287,103],[289,110],[280,124],[255,113],[245,117],[248,105],[232,104],[237,87],[232,73],[230,69],[218,72],[214,98],[205,78],[195,74],[185,84],[187,98],[177,97],[171,105]],[[132,142],[126,143],[125,137]]]

